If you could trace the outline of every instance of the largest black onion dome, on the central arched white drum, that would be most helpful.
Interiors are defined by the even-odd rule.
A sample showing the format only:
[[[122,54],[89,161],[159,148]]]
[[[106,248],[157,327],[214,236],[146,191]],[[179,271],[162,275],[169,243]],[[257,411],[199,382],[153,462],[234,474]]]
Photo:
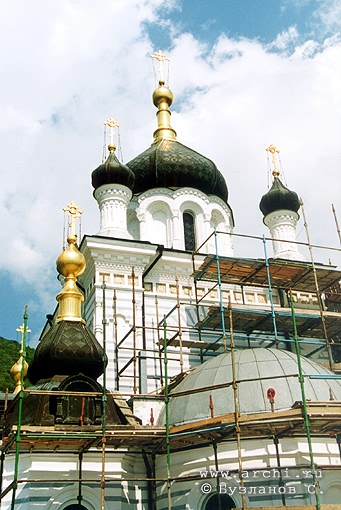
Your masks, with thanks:
[[[127,163],[135,174],[134,194],[153,188],[195,188],[227,203],[225,179],[210,159],[166,138]]]

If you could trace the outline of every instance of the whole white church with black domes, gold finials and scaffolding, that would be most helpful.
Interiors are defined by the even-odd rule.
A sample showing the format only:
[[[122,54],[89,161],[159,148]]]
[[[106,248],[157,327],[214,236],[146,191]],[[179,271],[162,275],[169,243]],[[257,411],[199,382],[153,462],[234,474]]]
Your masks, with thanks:
[[[223,173],[172,103],[160,79],[151,146],[124,164],[111,140],[92,172],[97,233],[78,243],[66,208],[57,311],[1,418],[1,510],[341,509],[341,271],[301,254],[273,145],[264,257],[235,256]]]

